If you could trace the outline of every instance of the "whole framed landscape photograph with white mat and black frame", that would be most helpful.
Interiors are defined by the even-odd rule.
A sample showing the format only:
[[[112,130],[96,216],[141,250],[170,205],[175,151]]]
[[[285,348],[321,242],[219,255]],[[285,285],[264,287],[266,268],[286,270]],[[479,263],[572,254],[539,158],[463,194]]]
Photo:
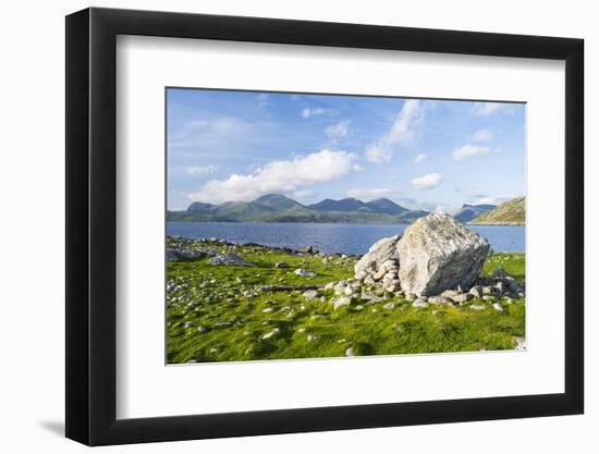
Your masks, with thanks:
[[[583,40],[66,17],[66,437],[580,414]]]

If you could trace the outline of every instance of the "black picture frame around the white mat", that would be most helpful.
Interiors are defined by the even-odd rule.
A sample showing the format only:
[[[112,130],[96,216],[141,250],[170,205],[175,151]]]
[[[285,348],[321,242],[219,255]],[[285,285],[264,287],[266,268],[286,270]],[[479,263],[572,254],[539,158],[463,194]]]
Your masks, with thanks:
[[[117,419],[118,35],[565,61],[565,392]],[[257,17],[86,9],[66,16],[66,437],[88,445],[580,414],[584,41]]]

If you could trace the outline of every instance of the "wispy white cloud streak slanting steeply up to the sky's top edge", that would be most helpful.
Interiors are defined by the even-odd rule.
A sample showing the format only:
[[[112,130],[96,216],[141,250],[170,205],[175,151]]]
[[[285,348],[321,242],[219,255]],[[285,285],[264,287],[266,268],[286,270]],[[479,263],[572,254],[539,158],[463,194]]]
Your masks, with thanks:
[[[407,99],[387,135],[370,144],[366,149],[366,158],[370,162],[381,163],[393,157],[393,147],[412,140],[416,134],[415,126],[424,119],[423,103],[416,99]]]

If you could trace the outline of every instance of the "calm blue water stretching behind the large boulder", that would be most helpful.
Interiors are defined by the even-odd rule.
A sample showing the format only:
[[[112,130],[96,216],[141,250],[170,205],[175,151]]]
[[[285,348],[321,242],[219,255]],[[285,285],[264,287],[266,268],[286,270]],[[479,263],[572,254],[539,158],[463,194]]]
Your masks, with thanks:
[[[408,224],[168,222],[167,233],[297,249],[311,245],[327,254],[363,255],[377,240],[402,233],[406,226]],[[485,236],[494,250],[524,253],[524,226],[468,225],[468,229]]]

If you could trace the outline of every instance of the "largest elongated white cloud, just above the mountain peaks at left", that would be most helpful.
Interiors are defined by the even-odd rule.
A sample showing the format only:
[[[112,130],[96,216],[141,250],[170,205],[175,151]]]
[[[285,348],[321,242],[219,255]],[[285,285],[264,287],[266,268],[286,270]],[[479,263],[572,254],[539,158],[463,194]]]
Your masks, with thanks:
[[[192,200],[220,203],[253,200],[269,193],[294,193],[302,186],[328,182],[352,171],[356,155],[323,149],[289,160],[271,161],[249,174],[212,180],[188,194]]]

